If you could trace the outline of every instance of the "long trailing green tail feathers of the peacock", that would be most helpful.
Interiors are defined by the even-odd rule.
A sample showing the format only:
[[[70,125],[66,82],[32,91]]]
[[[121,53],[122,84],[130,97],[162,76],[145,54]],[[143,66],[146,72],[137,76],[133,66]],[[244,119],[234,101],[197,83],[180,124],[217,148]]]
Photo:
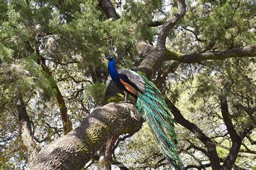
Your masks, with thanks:
[[[136,107],[149,124],[160,152],[175,169],[184,169],[176,147],[175,121],[171,117],[172,114],[165,103],[165,98],[151,81],[141,75],[140,77],[145,81],[145,93],[138,92]]]

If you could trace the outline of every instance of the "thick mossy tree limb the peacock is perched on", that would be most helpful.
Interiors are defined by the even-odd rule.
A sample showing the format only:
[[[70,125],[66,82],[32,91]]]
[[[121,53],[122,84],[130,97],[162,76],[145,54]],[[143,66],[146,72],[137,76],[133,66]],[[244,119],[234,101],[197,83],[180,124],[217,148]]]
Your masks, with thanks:
[[[137,132],[141,126],[141,115],[132,104],[99,107],[75,130],[44,147],[29,169],[81,169],[107,140]]]

